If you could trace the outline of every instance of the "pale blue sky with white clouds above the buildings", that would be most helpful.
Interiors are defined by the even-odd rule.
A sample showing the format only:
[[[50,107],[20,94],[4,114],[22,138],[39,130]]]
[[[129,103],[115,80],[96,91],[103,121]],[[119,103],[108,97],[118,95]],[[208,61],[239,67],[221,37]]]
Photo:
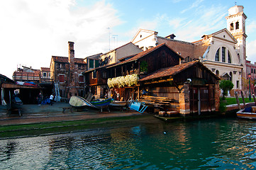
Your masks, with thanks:
[[[226,28],[228,9],[244,6],[247,60],[256,62],[255,0],[0,0],[0,74],[50,67],[52,55],[85,58],[108,52],[137,31],[193,42]]]

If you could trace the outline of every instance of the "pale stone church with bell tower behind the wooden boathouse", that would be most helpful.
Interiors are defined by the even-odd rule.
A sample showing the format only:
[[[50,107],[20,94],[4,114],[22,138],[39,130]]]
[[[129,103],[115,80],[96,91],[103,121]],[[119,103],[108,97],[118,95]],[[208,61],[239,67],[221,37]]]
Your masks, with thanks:
[[[233,6],[228,9],[226,16],[227,28],[203,35],[196,42],[174,40],[174,34],[161,37],[156,31],[143,29],[138,30],[131,42],[142,50],[165,42],[185,58],[184,62],[200,60],[221,79],[232,81],[235,91],[240,91],[246,87],[246,18],[243,6]]]

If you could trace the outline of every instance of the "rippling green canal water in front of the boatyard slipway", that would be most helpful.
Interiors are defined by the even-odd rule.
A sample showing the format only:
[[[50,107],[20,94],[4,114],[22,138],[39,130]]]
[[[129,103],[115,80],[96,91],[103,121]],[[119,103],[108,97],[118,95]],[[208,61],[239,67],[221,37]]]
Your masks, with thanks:
[[[256,121],[216,118],[0,140],[1,169],[256,169]]]

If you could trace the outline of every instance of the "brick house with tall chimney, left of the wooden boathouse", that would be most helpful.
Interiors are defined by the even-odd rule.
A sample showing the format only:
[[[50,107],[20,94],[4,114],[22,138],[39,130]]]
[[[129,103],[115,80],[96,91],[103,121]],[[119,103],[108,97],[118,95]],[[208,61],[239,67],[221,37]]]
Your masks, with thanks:
[[[52,56],[50,62],[50,75],[55,82],[55,93],[59,91],[61,98],[84,96],[82,72],[87,69],[87,63],[84,58],[74,57],[74,42],[68,43],[69,57]]]

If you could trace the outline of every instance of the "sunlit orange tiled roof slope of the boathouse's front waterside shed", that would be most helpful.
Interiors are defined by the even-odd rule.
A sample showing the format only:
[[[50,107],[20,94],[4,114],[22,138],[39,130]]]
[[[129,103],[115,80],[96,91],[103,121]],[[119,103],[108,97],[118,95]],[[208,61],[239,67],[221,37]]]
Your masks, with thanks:
[[[157,79],[157,78],[161,78],[161,77],[174,76],[175,74],[182,72],[184,69],[187,69],[196,63],[199,63],[199,61],[187,62],[184,64],[176,65],[174,67],[167,67],[167,68],[159,69],[156,72],[153,72],[152,74],[150,74],[148,77],[144,77],[143,79],[140,79],[140,81]]]

